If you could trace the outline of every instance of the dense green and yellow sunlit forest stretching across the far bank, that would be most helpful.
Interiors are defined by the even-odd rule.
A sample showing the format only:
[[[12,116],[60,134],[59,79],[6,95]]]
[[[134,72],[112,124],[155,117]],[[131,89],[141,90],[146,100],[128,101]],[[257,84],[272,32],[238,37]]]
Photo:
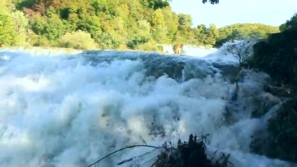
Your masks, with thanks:
[[[191,15],[174,13],[169,0],[2,1],[3,46],[158,51],[157,44],[212,47],[279,31],[264,24],[193,26]]]

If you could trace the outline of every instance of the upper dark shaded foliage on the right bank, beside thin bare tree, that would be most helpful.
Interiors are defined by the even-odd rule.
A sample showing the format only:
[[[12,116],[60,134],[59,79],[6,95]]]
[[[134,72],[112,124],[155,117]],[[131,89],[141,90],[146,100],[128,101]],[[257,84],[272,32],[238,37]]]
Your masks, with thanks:
[[[250,66],[268,73],[277,86],[297,84],[297,30],[272,34],[254,45]]]

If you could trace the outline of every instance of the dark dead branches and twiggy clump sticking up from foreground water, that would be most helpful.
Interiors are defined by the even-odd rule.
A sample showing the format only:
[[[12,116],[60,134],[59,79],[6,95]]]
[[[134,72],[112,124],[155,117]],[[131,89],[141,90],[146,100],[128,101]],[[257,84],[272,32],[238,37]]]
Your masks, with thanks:
[[[123,165],[127,162],[133,161],[135,158],[146,156],[157,149],[161,149],[159,155],[151,159],[153,160],[157,158],[157,160],[152,163],[151,167],[233,167],[233,164],[229,161],[230,154],[225,154],[221,152],[219,154],[219,159],[214,160],[214,156],[211,159],[208,159],[207,149],[205,146],[205,141],[207,137],[208,135],[204,135],[197,139],[196,136],[193,136],[191,134],[188,142],[182,143],[181,139],[179,139],[176,147],[174,147],[171,142],[169,142],[169,144],[168,142],[165,142],[162,146],[127,146],[107,154],[106,156],[96,161],[95,163],[89,165],[88,167],[92,167],[93,165],[98,164],[100,161],[106,159],[107,157],[119,151],[134,147],[150,147],[154,149],[139,156],[134,156],[132,158],[123,160],[117,163],[117,165]],[[214,155],[216,154],[216,152],[217,151],[214,152]]]

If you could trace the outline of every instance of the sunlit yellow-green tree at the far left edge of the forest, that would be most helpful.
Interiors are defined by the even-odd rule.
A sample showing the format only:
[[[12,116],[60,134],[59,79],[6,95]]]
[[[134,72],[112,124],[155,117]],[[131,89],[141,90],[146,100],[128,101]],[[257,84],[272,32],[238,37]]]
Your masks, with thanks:
[[[6,12],[0,12],[0,42],[3,45],[12,45],[15,42],[16,30],[12,17]]]

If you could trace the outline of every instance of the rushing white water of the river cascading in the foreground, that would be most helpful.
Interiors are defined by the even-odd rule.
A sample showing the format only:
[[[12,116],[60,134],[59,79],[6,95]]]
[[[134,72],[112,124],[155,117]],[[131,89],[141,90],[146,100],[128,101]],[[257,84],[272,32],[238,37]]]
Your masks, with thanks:
[[[182,69],[175,67],[180,63]],[[250,117],[256,106],[249,97],[263,95],[263,76],[252,72],[243,79],[240,111],[226,124],[235,85],[220,70],[202,59],[139,52],[53,57],[0,51],[0,166],[85,167],[143,144],[141,138],[160,146],[177,141],[178,133],[182,140],[208,133],[210,154],[231,153],[235,167],[289,167],[249,151],[253,132],[266,126]],[[122,151],[97,166],[115,167],[148,150]],[[157,153],[122,166],[150,167]]]

